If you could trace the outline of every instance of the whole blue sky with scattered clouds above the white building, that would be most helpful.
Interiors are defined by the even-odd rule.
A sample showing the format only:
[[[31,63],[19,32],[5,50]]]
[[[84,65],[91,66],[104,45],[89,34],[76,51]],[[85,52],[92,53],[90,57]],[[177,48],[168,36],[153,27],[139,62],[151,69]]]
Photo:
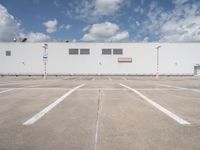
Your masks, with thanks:
[[[199,42],[199,0],[0,0],[0,41]]]

